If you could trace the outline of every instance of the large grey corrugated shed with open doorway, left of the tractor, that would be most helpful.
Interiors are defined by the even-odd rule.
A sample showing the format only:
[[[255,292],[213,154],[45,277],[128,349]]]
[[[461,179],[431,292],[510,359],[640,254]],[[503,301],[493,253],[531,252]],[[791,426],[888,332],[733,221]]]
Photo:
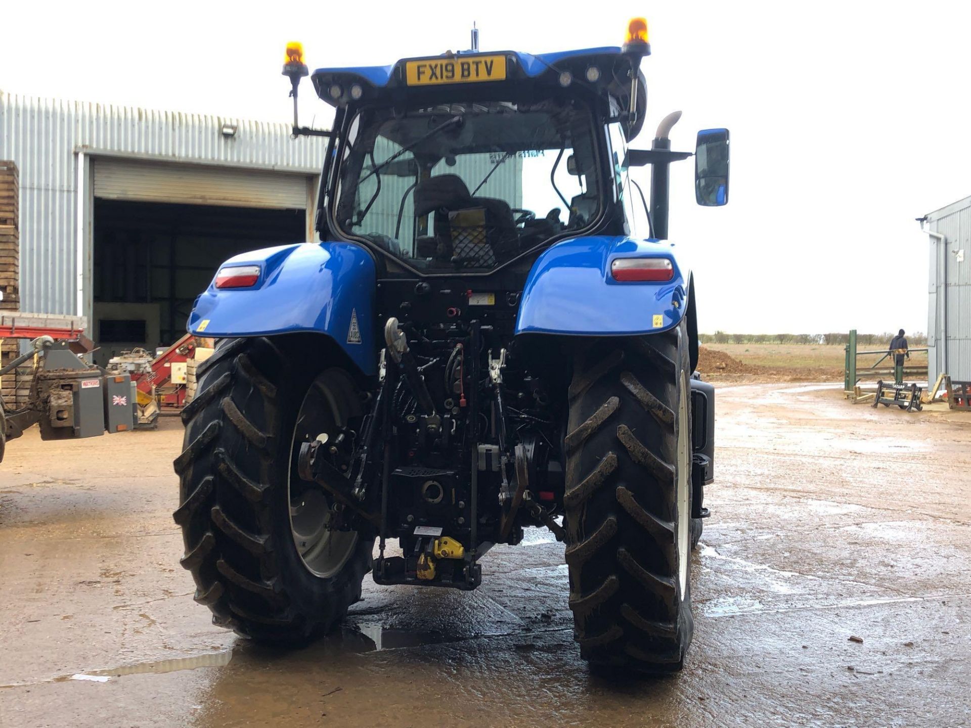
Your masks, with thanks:
[[[102,358],[171,343],[226,257],[314,239],[326,141],[293,140],[286,123],[0,91],[20,309],[86,316]]]

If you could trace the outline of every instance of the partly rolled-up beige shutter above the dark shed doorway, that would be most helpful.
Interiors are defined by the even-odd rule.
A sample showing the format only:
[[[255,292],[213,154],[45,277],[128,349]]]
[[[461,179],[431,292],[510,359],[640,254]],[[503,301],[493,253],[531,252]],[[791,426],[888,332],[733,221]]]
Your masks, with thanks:
[[[108,200],[303,210],[307,176],[264,170],[101,158],[94,196]]]

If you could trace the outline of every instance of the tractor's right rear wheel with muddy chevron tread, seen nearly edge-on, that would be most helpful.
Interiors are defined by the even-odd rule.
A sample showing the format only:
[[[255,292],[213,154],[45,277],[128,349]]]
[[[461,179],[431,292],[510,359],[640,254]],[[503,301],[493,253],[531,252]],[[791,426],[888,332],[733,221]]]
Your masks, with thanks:
[[[683,320],[575,355],[566,562],[574,634],[591,666],[677,671],[691,642],[687,348]]]

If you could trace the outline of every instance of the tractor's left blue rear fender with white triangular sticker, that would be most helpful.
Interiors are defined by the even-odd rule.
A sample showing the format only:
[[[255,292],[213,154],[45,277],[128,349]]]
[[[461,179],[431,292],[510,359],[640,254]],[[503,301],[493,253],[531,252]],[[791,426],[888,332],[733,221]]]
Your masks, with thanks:
[[[300,243],[236,255],[220,266],[256,265],[247,288],[216,287],[199,296],[188,330],[216,338],[318,332],[344,349],[366,375],[377,372],[375,266],[348,243]]]

